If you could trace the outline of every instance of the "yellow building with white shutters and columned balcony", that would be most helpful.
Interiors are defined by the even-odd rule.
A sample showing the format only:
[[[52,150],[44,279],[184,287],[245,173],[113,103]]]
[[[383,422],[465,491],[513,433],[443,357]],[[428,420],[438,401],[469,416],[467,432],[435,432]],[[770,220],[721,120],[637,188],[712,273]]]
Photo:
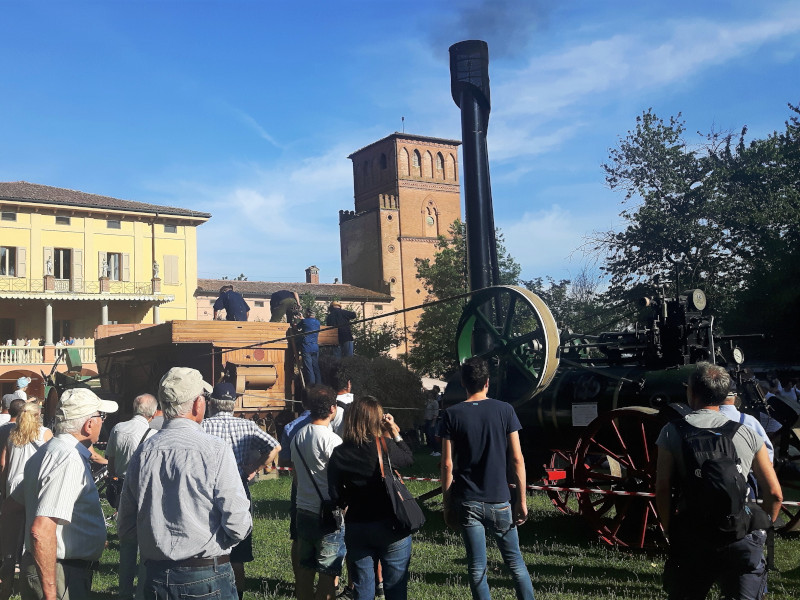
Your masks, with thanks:
[[[197,314],[196,227],[211,215],[0,182],[0,383],[40,383],[62,338],[94,362],[97,325]],[[93,366],[93,365],[92,365]]]

